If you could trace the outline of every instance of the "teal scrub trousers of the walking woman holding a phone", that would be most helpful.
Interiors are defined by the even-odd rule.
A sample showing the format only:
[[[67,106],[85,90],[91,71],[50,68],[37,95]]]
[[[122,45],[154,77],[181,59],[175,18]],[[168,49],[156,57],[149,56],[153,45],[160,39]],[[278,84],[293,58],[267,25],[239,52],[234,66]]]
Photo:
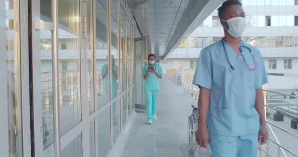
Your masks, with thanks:
[[[144,90],[146,97],[146,108],[147,108],[147,120],[153,120],[152,115],[157,114],[156,103],[157,93],[155,90]]]

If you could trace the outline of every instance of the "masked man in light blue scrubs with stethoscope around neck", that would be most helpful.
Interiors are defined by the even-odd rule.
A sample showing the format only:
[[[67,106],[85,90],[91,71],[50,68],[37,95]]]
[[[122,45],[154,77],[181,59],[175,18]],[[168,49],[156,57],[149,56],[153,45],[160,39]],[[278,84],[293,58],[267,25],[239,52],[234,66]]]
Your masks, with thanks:
[[[246,24],[241,6],[228,0],[218,9],[225,36],[202,50],[193,78],[200,87],[196,141],[210,144],[213,157],[256,157],[258,143],[267,140],[267,73],[260,51],[240,40]]]

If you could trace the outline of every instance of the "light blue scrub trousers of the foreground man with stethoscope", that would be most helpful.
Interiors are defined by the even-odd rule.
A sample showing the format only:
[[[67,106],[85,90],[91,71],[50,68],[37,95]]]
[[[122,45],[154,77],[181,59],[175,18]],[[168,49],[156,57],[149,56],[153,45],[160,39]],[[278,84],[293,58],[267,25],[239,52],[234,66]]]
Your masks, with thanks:
[[[212,157],[257,157],[258,133],[241,136],[210,135]]]

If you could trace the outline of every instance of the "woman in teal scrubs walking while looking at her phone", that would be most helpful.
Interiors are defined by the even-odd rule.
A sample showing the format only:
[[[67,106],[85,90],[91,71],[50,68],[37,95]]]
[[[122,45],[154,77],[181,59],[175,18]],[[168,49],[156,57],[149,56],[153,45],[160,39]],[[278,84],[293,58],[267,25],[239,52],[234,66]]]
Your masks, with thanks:
[[[148,64],[145,64],[142,70],[144,78],[144,91],[146,97],[147,108],[147,123],[152,124],[154,119],[157,119],[157,94],[160,90],[159,78],[164,74],[160,64],[155,63],[155,55],[148,55]]]

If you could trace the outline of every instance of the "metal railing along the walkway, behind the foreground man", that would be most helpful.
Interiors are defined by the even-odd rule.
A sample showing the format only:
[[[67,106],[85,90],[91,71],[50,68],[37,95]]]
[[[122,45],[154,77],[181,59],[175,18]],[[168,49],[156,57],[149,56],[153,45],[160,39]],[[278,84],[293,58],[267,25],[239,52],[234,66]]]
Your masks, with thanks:
[[[182,72],[182,86],[184,87],[185,93],[187,93],[189,96],[193,98],[194,103],[197,102],[198,95],[200,93],[200,89],[197,86],[192,85],[192,80],[194,76],[194,69],[184,69]],[[270,157],[298,157],[298,133],[295,134],[292,131],[289,131],[287,129],[282,128],[279,126],[279,124],[274,124],[271,122],[272,118],[270,115],[272,115],[272,112],[279,112],[282,115],[286,116],[286,118],[298,118],[297,115],[288,112],[288,110],[283,109],[285,108],[284,106],[291,105],[293,107],[297,106],[297,113],[298,113],[298,105],[293,103],[292,101],[293,98],[298,99],[297,96],[291,95],[291,94],[284,94],[284,93],[279,93],[275,91],[269,91],[269,90],[264,90],[265,93],[265,107],[266,107],[266,114],[267,114],[267,130],[268,130],[268,139],[267,143],[264,145],[259,145],[259,156],[264,157],[264,156],[270,156]],[[278,95],[281,96],[281,99],[270,99],[271,97],[268,97],[269,95],[274,94],[274,96]],[[269,98],[269,99],[267,99]],[[290,99],[291,98],[291,99]],[[280,104],[284,104],[284,106],[281,105],[283,108],[278,107],[278,102]],[[274,104],[274,106],[271,106],[270,104]],[[298,101],[297,101],[298,104]],[[269,109],[269,110],[268,110]],[[268,116],[269,115],[269,116]],[[275,129],[278,131],[276,131]],[[278,136],[276,135],[275,132],[278,132]],[[285,143],[280,142],[278,139],[283,139],[283,137],[280,136],[286,136],[287,138],[291,139],[292,141],[286,141]],[[289,143],[295,143],[294,145],[290,145]],[[293,147],[296,146],[296,148],[293,149]],[[294,152],[295,151],[295,152]]]

